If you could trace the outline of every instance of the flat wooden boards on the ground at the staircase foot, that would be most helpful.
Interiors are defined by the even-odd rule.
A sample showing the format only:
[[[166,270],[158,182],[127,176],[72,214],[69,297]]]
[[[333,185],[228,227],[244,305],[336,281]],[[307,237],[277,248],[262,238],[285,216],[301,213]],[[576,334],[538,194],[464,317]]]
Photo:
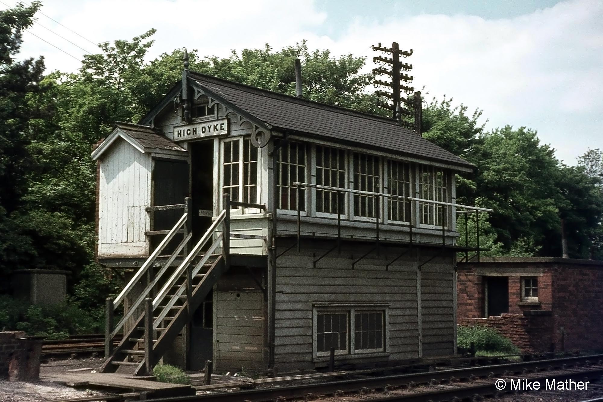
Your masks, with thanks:
[[[147,395],[153,398],[195,395],[195,388],[190,385],[140,380],[139,378],[133,377],[131,374],[57,372],[40,375],[40,380],[62,383],[72,387],[93,385],[105,388],[144,391],[148,392]]]

